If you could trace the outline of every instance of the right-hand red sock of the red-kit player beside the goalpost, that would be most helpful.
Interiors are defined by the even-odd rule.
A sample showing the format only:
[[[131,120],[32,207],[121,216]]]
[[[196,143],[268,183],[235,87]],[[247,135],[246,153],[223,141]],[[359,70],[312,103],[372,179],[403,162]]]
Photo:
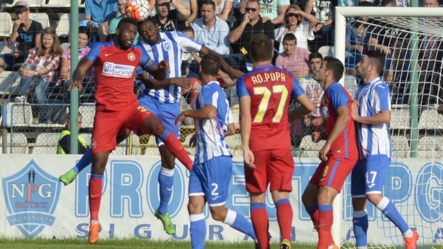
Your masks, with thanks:
[[[323,208],[325,207],[325,208]],[[325,210],[324,210],[325,209]],[[318,219],[318,249],[327,249],[328,246],[334,245],[332,239],[331,228],[334,222],[332,214],[332,205],[320,205],[320,214]]]

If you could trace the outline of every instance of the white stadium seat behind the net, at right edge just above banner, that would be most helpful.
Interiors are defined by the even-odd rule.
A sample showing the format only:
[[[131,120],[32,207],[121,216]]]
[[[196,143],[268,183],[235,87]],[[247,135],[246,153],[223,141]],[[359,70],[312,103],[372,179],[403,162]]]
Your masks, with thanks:
[[[424,136],[418,140],[418,158],[443,158],[443,137]]]

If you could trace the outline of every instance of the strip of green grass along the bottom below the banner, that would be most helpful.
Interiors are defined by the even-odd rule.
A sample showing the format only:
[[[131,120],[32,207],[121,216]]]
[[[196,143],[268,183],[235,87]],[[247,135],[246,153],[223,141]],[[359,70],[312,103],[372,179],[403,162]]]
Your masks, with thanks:
[[[190,241],[147,241],[142,239],[104,239],[89,245],[87,239],[0,239],[0,248],[5,249],[64,249],[64,248],[191,248]],[[254,248],[253,243],[208,242],[208,249]],[[271,248],[278,248],[274,243]],[[314,249],[314,244],[293,243],[292,248]]]

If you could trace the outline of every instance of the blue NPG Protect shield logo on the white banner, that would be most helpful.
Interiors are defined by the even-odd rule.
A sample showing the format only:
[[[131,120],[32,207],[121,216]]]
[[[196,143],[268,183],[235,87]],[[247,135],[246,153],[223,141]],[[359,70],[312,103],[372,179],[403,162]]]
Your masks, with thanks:
[[[46,225],[53,225],[60,182],[31,160],[16,174],[3,178],[3,195],[10,214],[6,217],[9,225],[17,225],[26,237],[32,238]]]

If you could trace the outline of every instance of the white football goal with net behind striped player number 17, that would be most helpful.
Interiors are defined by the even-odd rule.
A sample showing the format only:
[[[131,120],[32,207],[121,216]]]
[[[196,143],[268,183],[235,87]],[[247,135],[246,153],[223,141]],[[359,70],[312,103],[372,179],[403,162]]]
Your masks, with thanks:
[[[417,230],[419,248],[443,246],[443,116],[436,110],[443,104],[443,11],[435,9],[336,9],[335,56],[345,62],[347,77],[359,82],[354,67],[362,51],[379,50],[386,56],[382,76],[392,94],[393,156],[383,194]],[[345,23],[344,17],[354,21]],[[353,95],[356,87],[347,89]],[[371,203],[367,210],[368,248],[402,246],[395,225]],[[341,246],[355,248],[350,181],[343,190],[341,215]]]

